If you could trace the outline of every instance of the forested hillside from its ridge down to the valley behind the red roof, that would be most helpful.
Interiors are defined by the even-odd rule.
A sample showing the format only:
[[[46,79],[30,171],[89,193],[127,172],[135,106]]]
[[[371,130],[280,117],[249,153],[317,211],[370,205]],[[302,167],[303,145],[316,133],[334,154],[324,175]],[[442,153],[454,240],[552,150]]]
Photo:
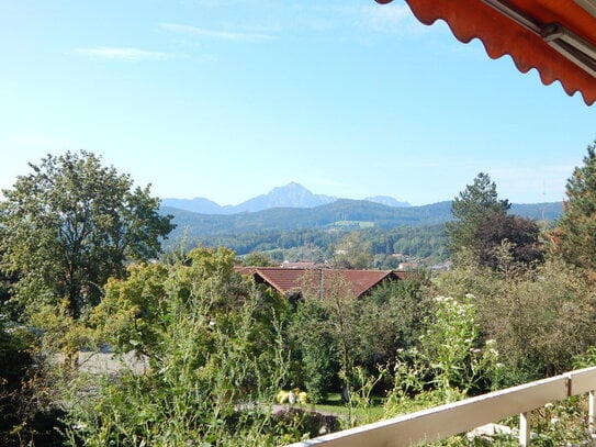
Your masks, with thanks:
[[[514,204],[510,213],[524,217],[553,221],[561,213],[560,203]],[[395,208],[358,200],[337,200],[311,208],[275,208],[232,215],[199,214],[162,206],[173,215],[177,228],[166,246],[229,247],[238,255],[269,252],[279,260],[322,261],[349,233],[357,232],[370,244],[376,267],[391,267],[383,255],[445,260],[445,223],[451,220],[451,202],[424,206]],[[389,264],[387,264],[389,261]]]

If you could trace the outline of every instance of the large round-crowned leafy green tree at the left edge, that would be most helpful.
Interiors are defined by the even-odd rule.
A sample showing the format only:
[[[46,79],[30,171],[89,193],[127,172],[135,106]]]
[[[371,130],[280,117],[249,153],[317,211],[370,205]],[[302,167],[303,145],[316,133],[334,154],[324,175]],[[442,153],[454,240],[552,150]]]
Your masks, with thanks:
[[[0,202],[0,269],[15,273],[23,305],[66,302],[78,319],[97,305],[109,277],[130,259],[158,256],[173,225],[149,186],[81,150],[47,155],[18,177]]]

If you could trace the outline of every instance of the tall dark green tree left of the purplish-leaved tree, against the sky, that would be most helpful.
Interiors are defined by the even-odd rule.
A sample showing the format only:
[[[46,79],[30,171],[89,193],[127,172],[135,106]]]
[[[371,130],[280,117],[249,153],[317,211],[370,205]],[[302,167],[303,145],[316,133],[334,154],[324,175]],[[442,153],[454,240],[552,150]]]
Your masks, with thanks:
[[[510,208],[507,200],[498,200],[496,185],[487,174],[480,172],[472,185],[468,185],[451,204],[453,221],[448,222],[447,232],[452,254],[461,250],[479,250],[480,232],[493,213],[505,214]]]

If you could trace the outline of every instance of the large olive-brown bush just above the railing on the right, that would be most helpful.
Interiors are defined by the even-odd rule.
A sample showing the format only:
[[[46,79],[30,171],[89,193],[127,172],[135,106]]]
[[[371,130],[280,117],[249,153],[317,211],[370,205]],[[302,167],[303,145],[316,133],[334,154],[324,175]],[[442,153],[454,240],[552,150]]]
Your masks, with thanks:
[[[594,344],[596,297],[572,267],[547,260],[525,267],[504,257],[498,271],[460,264],[435,281],[439,293],[471,293],[485,337],[497,342],[499,387],[519,384],[572,368],[572,358]]]

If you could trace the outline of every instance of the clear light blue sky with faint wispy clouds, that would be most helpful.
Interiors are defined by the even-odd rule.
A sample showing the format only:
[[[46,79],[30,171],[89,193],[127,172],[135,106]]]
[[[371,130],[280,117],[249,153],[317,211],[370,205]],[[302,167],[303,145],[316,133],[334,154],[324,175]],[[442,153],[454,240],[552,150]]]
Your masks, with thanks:
[[[0,188],[86,149],[161,198],[559,201],[596,109],[373,0],[19,0],[0,14]]]

